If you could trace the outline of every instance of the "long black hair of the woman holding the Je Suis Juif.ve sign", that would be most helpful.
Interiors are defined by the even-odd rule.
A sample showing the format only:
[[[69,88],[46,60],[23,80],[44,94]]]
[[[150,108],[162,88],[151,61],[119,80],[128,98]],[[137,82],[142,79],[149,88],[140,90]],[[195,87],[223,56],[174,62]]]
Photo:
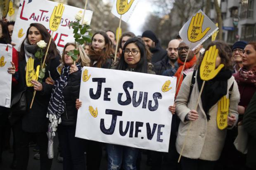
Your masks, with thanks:
[[[126,46],[130,43],[134,43],[140,49],[140,61],[136,65],[135,72],[147,73],[147,56],[145,51],[145,44],[142,42],[142,40],[131,38],[126,41],[123,49],[126,49]],[[127,68],[128,64],[124,61],[124,52],[122,51],[121,58],[118,66],[116,67],[116,70],[126,70]]]

